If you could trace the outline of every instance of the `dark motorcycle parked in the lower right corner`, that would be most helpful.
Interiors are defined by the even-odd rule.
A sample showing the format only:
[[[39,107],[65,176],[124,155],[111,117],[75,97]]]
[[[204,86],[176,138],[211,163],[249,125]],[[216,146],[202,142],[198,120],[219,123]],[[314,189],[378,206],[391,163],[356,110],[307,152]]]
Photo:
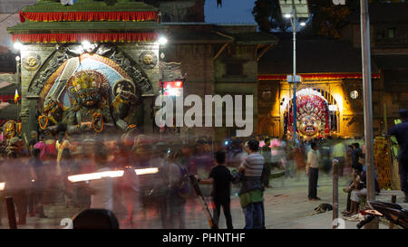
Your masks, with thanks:
[[[403,229],[408,228],[408,211],[399,204],[384,202],[367,202],[368,208],[364,210],[364,220],[356,226],[362,228],[366,223],[370,223],[375,217],[384,217],[390,222],[397,224]]]

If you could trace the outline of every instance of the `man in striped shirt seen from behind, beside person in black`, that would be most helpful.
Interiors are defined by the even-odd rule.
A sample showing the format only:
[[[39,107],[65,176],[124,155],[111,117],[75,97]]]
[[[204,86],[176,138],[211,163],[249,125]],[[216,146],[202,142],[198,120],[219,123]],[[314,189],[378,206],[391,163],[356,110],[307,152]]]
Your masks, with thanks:
[[[241,187],[239,190],[240,204],[245,215],[245,229],[261,229],[265,221],[262,210],[263,186],[262,170],[264,168],[264,157],[257,151],[259,143],[255,139],[245,144],[248,157],[238,167],[238,173],[242,174]]]

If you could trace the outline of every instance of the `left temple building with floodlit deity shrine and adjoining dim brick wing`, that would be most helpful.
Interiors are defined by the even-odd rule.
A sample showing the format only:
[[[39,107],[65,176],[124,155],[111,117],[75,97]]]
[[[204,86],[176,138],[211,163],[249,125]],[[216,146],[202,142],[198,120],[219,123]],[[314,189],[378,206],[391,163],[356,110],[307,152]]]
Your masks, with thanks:
[[[185,1],[176,2],[163,1],[159,7],[185,9]],[[277,43],[276,37],[257,33],[252,24],[204,23],[203,1],[187,2],[201,6],[194,9],[202,17],[181,14],[161,22],[165,15],[158,8],[125,0],[113,5],[43,0],[24,7],[21,23],[7,28],[13,43],[22,44],[16,82],[23,132],[63,122],[70,133],[112,126],[158,133],[154,101],[166,83],[182,85],[184,96],[253,95],[257,101],[257,61]],[[161,36],[169,43],[160,45]],[[256,116],[257,106],[255,121]],[[226,138],[236,128],[168,130],[183,138]]]

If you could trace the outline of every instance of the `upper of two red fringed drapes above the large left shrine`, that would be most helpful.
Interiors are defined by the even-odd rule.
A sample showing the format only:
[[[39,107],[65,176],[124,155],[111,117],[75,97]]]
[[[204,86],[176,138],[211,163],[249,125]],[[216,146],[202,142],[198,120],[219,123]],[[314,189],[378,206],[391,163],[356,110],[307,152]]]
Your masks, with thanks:
[[[20,21],[32,22],[90,22],[90,21],[158,21],[158,14],[154,11],[145,12],[51,12],[35,13],[21,12]]]

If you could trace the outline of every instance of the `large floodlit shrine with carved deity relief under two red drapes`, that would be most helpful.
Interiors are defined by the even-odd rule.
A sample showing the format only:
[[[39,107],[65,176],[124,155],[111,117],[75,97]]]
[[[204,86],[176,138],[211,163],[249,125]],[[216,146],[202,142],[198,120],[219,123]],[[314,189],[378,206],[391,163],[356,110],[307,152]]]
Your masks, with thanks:
[[[21,43],[24,133],[153,132],[160,78],[180,67],[159,59],[159,10],[141,2],[39,1],[7,29]],[[182,78],[177,78],[182,80]]]

